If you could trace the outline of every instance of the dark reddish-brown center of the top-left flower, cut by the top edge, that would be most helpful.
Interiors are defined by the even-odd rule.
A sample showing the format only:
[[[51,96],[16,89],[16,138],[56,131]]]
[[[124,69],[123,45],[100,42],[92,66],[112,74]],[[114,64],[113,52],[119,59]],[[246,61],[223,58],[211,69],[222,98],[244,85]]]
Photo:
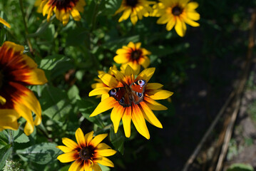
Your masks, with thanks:
[[[73,9],[74,6],[76,6],[78,0],[50,0],[48,4],[51,4],[51,6],[56,6],[58,10],[61,9]]]

